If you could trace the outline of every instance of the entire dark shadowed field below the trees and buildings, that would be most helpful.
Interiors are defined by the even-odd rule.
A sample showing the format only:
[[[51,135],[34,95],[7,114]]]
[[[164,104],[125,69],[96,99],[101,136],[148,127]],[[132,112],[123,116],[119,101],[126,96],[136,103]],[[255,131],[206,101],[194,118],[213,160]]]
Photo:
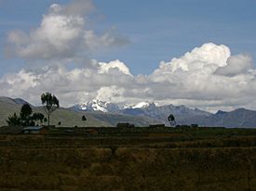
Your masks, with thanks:
[[[256,190],[256,130],[1,134],[0,172],[0,190]]]

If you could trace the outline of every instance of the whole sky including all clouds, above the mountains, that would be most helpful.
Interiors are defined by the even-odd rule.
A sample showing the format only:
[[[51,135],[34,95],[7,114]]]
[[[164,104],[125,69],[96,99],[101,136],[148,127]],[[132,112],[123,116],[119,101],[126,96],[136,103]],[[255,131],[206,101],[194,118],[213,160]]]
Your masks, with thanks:
[[[254,0],[0,0],[0,96],[256,109]]]

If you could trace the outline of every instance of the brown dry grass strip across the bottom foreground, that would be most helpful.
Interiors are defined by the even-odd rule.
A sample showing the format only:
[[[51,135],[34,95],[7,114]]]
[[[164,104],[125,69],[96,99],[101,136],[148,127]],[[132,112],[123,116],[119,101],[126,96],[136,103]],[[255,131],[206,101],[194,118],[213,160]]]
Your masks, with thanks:
[[[5,189],[256,190],[255,147],[10,147],[0,156]]]

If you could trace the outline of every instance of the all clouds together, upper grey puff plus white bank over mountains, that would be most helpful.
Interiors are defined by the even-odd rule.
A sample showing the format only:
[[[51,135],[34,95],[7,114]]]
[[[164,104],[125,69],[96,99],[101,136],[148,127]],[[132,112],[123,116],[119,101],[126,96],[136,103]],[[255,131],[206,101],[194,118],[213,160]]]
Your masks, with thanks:
[[[231,55],[226,45],[195,47],[182,57],[162,61],[149,75],[133,75],[118,59],[83,61],[93,51],[127,43],[115,32],[99,34],[90,29],[89,14],[93,10],[89,0],[66,6],[53,4],[31,32],[9,32],[8,54],[41,60],[43,67],[5,74],[0,78],[0,95],[40,104],[40,95],[49,91],[60,98],[62,107],[97,98],[126,104],[183,104],[212,111],[256,109],[252,57]],[[64,59],[81,67],[70,69],[63,64]]]

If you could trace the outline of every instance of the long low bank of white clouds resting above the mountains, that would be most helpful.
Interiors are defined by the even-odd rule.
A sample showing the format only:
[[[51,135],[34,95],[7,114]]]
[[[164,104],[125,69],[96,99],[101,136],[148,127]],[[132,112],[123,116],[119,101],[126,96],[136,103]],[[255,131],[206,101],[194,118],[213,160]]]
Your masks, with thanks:
[[[115,103],[186,105],[207,110],[255,108],[256,70],[252,58],[231,56],[226,45],[195,47],[182,57],[162,61],[149,75],[134,76],[128,66],[114,60],[91,60],[85,68],[68,70],[59,64],[40,71],[20,70],[0,80],[0,94],[39,103],[42,92],[58,96],[68,107],[93,98]]]

